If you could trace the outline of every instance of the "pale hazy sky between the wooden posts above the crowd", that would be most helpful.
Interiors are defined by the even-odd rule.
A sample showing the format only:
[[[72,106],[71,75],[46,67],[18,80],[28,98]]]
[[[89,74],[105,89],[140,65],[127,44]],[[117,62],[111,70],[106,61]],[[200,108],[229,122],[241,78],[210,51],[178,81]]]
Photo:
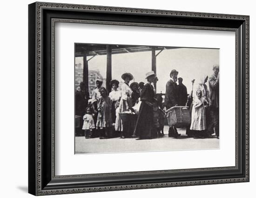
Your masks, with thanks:
[[[156,54],[159,51],[156,51]],[[88,57],[89,59],[90,57]],[[82,58],[76,58],[76,64],[83,64]],[[156,57],[157,93],[165,93],[165,86],[172,69],[176,69],[178,77],[183,78],[183,84],[188,92],[192,89],[191,80],[198,82],[201,75],[211,75],[212,66],[219,63],[219,49],[178,48],[163,50]],[[88,69],[98,69],[106,78],[107,56],[95,56],[88,61]],[[151,71],[151,52],[124,53],[112,55],[112,79],[121,81],[125,72],[132,73],[136,82],[147,82],[145,74]],[[133,80],[134,81],[134,80]]]

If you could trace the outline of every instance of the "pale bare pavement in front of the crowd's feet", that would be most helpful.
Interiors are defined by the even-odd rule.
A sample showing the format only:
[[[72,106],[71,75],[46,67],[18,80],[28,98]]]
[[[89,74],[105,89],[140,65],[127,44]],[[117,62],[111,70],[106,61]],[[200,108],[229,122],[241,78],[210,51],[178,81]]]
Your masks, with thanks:
[[[111,139],[85,139],[75,137],[75,154],[104,153],[104,152],[145,152],[145,151],[172,151],[218,149],[219,139],[194,139],[188,138],[186,129],[177,129],[181,136],[178,139],[168,137],[168,126],[164,126],[164,136],[156,139],[135,140],[134,138]]]

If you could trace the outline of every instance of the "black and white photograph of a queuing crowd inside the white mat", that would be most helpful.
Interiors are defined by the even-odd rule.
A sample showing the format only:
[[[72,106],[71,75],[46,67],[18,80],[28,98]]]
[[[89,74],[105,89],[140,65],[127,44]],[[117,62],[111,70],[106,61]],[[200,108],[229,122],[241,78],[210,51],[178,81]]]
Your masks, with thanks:
[[[219,53],[74,43],[74,153],[219,149]]]

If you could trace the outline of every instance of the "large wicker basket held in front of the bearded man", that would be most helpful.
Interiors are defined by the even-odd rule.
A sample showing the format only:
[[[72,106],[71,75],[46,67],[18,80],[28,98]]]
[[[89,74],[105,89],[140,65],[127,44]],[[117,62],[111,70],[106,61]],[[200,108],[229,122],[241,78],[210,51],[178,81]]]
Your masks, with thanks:
[[[173,106],[166,111],[169,126],[186,127],[191,124],[188,106]]]

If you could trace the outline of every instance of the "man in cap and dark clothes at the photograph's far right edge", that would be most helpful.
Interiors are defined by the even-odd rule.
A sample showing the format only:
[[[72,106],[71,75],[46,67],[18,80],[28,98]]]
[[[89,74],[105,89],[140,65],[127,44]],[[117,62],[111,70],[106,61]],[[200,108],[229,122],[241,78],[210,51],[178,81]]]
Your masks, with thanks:
[[[219,65],[213,65],[213,74],[209,76],[210,90],[210,117],[211,122],[208,126],[209,135],[215,130],[217,138],[219,138]]]

